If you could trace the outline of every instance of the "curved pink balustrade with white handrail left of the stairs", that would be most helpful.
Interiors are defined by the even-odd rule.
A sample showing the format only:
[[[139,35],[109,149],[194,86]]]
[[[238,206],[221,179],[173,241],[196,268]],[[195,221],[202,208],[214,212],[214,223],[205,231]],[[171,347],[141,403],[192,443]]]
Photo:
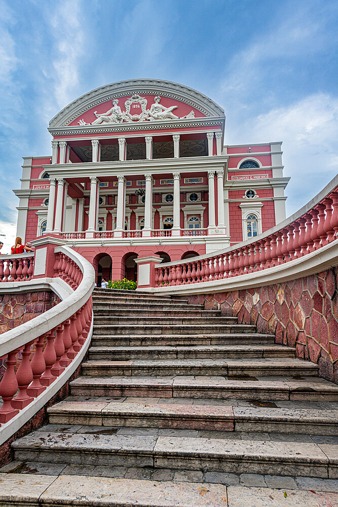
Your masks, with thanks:
[[[42,315],[0,335],[0,359],[6,358],[0,382],[2,424],[33,404],[68,367],[71,370],[69,365],[91,334],[94,268],[76,251],[59,246],[54,249],[52,270],[54,278],[73,289],[68,289],[71,294]],[[67,378],[63,375],[61,385]]]

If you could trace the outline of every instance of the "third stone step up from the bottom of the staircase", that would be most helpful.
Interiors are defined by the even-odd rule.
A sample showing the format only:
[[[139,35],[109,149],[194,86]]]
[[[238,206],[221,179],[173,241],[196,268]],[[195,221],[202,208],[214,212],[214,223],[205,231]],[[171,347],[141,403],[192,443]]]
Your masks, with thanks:
[[[338,435],[338,410],[63,401],[50,424]],[[338,442],[338,441],[337,441]]]

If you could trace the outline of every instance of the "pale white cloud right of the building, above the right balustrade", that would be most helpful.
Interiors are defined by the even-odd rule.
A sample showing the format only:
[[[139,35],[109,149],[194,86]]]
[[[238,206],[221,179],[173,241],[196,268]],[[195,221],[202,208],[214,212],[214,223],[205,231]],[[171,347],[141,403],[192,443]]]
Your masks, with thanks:
[[[283,141],[287,214],[308,202],[337,172],[338,99],[313,94],[233,128],[227,143]]]

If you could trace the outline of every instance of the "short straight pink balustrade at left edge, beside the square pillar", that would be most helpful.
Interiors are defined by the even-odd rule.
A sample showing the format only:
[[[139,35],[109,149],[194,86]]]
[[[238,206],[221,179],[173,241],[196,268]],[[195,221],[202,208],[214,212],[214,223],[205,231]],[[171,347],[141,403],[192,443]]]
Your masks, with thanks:
[[[33,268],[34,253],[0,255],[0,282],[29,281]]]

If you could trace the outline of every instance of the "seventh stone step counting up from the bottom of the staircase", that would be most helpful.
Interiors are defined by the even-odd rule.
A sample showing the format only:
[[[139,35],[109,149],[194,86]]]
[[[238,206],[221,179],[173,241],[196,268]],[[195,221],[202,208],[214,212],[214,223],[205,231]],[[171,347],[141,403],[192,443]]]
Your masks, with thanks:
[[[93,335],[94,346],[184,346],[184,345],[251,345],[274,344],[275,335],[264,333],[220,333],[196,335]]]

